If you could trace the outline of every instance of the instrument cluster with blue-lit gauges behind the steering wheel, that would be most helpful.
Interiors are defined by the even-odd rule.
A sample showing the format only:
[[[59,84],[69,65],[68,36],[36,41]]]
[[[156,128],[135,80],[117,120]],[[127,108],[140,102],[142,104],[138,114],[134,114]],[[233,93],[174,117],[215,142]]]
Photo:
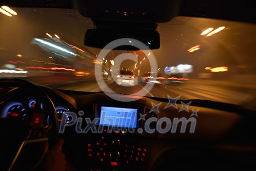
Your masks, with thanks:
[[[20,96],[17,96],[17,94]],[[1,118],[7,116],[14,117],[24,123],[26,123],[27,120],[32,120],[32,122],[39,127],[47,127],[49,124],[49,115],[45,114],[44,104],[37,97],[24,94],[19,89],[14,89],[7,93],[4,99],[5,100],[0,104]],[[63,113],[70,111],[68,107],[70,105],[66,106],[65,104],[68,103],[63,102],[63,100],[62,102],[54,103],[59,123],[61,122]],[[67,118],[67,121],[68,120],[69,118]]]

